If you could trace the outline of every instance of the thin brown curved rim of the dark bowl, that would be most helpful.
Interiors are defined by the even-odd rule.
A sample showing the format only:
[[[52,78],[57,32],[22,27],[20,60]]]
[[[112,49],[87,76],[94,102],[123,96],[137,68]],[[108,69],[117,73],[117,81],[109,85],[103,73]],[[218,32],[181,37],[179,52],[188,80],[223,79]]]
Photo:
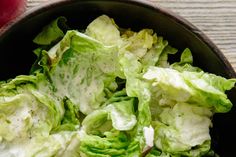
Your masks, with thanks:
[[[10,30],[20,23],[24,22],[27,19],[30,19],[32,16],[36,16],[52,7],[60,7],[63,5],[71,4],[71,3],[79,3],[79,2],[102,2],[102,1],[110,1],[110,0],[50,0],[45,3],[42,3],[36,7],[33,7],[22,15],[14,19],[13,21],[9,22],[8,24],[4,25],[0,31],[0,38],[10,32]],[[229,78],[236,78],[236,72],[232,65],[230,64],[229,60],[225,57],[223,52],[212,42],[212,40],[203,33],[200,29],[198,29],[195,25],[189,22],[187,19],[183,18],[177,13],[174,13],[170,9],[167,9],[163,6],[159,6],[155,3],[152,3],[148,0],[112,0],[113,2],[120,2],[120,3],[127,3],[131,5],[138,5],[141,7],[145,7],[148,9],[152,9],[154,11],[160,12],[161,14],[169,17],[170,19],[174,20],[175,22],[181,24],[185,29],[192,32],[197,38],[199,38],[203,43],[205,43],[212,52],[222,61],[224,69]]]

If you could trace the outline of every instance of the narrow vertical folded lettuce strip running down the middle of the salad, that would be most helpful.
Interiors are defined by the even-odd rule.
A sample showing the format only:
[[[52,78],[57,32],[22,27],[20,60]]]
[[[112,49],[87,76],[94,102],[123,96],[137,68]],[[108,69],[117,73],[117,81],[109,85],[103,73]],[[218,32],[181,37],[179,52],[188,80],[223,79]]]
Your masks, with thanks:
[[[149,84],[141,78],[143,67],[135,54],[126,51],[123,53],[120,63],[126,77],[127,95],[138,99],[137,126],[132,132],[132,143],[134,145],[131,145],[129,149],[131,149],[134,154],[141,154],[149,144],[147,144],[143,129],[144,127],[149,127],[151,124],[151,112],[149,108],[151,93]]]

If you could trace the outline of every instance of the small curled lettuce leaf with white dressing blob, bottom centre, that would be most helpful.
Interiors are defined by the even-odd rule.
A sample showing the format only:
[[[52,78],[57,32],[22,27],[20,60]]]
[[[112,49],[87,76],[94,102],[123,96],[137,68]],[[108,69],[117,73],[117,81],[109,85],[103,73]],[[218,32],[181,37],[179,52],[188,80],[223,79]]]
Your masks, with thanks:
[[[134,99],[129,98],[92,112],[83,120],[82,129],[87,134],[102,135],[103,132],[113,128],[120,131],[131,130],[136,122]]]

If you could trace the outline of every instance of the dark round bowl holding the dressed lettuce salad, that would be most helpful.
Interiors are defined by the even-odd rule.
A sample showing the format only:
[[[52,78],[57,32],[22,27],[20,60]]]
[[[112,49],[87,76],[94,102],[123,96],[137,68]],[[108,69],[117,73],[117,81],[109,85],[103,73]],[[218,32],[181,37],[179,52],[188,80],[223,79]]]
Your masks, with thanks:
[[[142,0],[59,0],[31,9],[0,33],[0,80],[28,74],[36,56],[32,39],[58,16],[68,25],[84,29],[94,18],[106,14],[123,28],[154,29],[170,45],[192,50],[194,64],[217,75],[235,78],[236,73],[222,52],[198,28],[179,15]],[[228,96],[236,104],[236,90]],[[220,156],[236,156],[236,110],[213,117],[212,147]]]

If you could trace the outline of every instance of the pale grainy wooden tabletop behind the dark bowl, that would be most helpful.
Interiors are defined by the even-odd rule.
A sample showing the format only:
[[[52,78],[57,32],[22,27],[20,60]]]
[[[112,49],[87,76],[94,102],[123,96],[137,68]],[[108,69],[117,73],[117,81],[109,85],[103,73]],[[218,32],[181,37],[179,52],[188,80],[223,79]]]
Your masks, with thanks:
[[[31,9],[49,0],[28,0]],[[236,70],[236,0],[149,0],[183,16],[202,30]]]

